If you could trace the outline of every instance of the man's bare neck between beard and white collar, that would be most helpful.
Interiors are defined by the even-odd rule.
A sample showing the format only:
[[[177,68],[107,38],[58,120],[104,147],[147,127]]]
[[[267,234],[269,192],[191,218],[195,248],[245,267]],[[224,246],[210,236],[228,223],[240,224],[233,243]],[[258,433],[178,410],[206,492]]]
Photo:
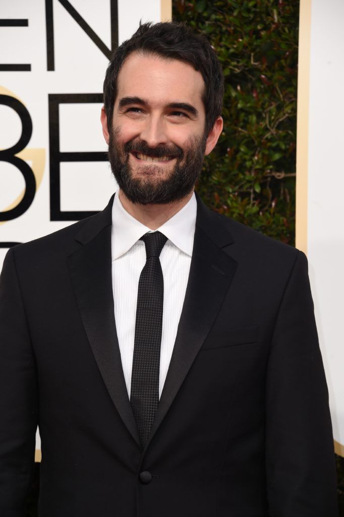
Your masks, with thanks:
[[[139,203],[129,201],[122,190],[119,190],[119,199],[123,208],[126,209],[132,217],[147,226],[150,230],[157,230],[157,228],[177,214],[177,212],[186,205],[193,193],[194,191],[192,190],[190,194],[183,197],[182,200],[174,201],[173,203],[140,205]]]

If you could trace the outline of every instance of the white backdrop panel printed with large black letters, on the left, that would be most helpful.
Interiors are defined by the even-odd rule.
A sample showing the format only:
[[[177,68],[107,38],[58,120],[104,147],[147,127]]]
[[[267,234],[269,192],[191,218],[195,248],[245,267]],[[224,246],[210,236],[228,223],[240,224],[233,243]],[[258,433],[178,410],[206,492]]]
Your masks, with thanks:
[[[113,14],[118,13],[118,26],[116,20],[111,26],[111,4]],[[108,58],[89,34],[93,31],[103,47],[111,50],[112,34],[116,35],[117,28],[121,43],[136,31],[140,19],[160,21],[161,6],[166,12],[165,4],[166,1],[160,0],[1,1],[0,270],[13,242],[26,242],[54,232],[79,219],[80,211],[98,211],[107,204],[115,183],[104,161],[106,145],[99,117]],[[49,5],[53,22],[46,24]],[[81,26],[84,22],[88,33]],[[48,27],[52,37],[52,26],[55,69],[48,70],[47,55],[50,52],[51,56],[52,45],[50,42],[48,48],[46,32]],[[65,97],[60,97],[61,94]],[[18,112],[24,117],[24,129]],[[12,154],[29,165],[26,166],[28,185],[17,164],[4,161],[8,156],[1,153],[14,146],[22,132],[26,140],[30,136],[29,141]],[[75,155],[65,155],[65,161],[54,160],[51,166],[52,149],[59,153],[88,154],[77,155],[82,161],[73,161]],[[57,205],[56,197],[60,198]],[[16,217],[4,220],[4,212],[13,217],[9,210],[23,207],[23,200],[29,205],[23,213],[19,216],[14,213]],[[40,448],[38,435],[36,448]]]

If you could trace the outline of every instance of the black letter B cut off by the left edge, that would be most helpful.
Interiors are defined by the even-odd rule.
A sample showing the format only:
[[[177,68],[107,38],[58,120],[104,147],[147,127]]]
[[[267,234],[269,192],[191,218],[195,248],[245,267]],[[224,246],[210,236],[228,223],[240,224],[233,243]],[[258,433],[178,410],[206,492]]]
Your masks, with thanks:
[[[10,210],[0,212],[0,221],[10,221],[11,219],[16,219],[24,214],[34,201],[36,193],[36,179],[32,169],[26,161],[18,158],[18,156],[14,156],[17,153],[20,153],[20,151],[29,143],[32,135],[32,120],[24,104],[22,104],[18,99],[10,97],[9,95],[0,95],[0,104],[4,104],[5,106],[12,108],[16,113],[18,113],[22,122],[22,134],[17,144],[14,144],[9,149],[3,149],[0,151],[0,161],[12,163],[12,165],[20,170],[25,180],[25,192],[21,202]]]

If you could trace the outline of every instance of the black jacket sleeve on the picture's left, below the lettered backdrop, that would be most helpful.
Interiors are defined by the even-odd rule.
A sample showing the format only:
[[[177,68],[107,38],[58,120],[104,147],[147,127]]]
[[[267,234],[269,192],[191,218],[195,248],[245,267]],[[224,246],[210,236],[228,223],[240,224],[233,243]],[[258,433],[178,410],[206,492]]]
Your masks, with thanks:
[[[0,277],[0,515],[22,517],[32,479],[37,376],[14,252]]]

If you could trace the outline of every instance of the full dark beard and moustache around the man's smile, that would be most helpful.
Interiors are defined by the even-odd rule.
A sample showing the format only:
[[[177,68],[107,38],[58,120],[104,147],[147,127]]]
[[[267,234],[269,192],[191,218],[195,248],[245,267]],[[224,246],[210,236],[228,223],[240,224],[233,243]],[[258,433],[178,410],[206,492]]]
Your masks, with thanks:
[[[204,162],[207,137],[193,136],[189,145],[182,149],[173,144],[151,148],[145,141],[133,139],[120,145],[120,128],[111,131],[108,144],[108,159],[119,188],[132,203],[165,204],[184,199],[195,187]],[[165,165],[143,160],[142,175],[134,177],[129,163],[130,152],[162,158],[175,158],[176,163],[165,177]],[[148,165],[149,163],[149,165]],[[141,166],[137,163],[138,168]]]

